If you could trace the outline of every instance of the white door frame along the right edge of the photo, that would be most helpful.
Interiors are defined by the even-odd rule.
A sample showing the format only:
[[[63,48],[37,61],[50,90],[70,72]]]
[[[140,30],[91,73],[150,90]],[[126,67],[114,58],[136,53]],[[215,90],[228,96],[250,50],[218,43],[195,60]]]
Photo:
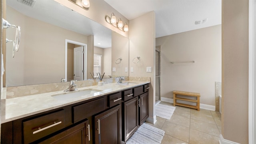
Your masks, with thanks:
[[[255,0],[249,0],[249,74],[248,74],[248,138],[249,144],[256,143],[256,92],[254,86],[256,86],[256,61],[254,59],[255,54]]]

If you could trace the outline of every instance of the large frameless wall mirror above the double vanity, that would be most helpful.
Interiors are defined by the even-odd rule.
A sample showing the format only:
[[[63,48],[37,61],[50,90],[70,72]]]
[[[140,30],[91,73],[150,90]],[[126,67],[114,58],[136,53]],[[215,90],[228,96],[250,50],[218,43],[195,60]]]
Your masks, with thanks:
[[[101,56],[99,72],[105,72],[104,78],[128,76],[128,38],[54,0],[37,0],[32,7],[17,0],[6,3],[6,20],[21,27],[14,58],[12,43],[6,43],[6,87],[69,81],[77,63],[84,69],[80,80],[92,79],[95,56]],[[6,30],[6,38],[14,36],[14,29]],[[75,50],[79,47],[84,51],[80,56]],[[120,64],[117,58],[122,58]]]

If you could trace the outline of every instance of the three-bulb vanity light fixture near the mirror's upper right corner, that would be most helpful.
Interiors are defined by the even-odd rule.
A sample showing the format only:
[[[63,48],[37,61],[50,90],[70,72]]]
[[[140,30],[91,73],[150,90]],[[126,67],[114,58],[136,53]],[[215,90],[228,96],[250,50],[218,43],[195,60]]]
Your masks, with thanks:
[[[106,22],[108,22],[109,24],[112,24],[112,26],[118,28],[119,30],[122,30],[123,32],[128,32],[129,28],[128,28],[128,24],[125,22],[123,24],[123,21],[121,18],[118,18],[118,22],[116,21],[116,16],[114,13],[111,14],[111,16],[106,16]]]

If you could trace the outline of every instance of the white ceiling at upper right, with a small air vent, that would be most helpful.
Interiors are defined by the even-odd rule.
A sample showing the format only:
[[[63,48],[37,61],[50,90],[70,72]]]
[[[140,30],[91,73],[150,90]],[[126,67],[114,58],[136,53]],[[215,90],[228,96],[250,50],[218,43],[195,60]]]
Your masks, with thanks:
[[[221,0],[105,0],[128,20],[154,11],[156,38],[221,24]],[[203,24],[196,20],[208,18]]]

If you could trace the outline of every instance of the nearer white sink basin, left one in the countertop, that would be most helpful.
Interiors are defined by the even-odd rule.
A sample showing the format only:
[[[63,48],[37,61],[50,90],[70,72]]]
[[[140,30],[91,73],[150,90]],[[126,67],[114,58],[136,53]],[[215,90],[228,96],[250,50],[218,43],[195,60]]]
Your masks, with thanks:
[[[86,89],[86,90],[76,90],[72,92],[64,92],[62,94],[54,94],[52,95],[53,98],[56,98],[58,100],[68,99],[68,98],[77,98],[80,96],[85,96],[88,94],[94,94],[97,92],[101,92],[102,90],[96,90],[96,89]]]

